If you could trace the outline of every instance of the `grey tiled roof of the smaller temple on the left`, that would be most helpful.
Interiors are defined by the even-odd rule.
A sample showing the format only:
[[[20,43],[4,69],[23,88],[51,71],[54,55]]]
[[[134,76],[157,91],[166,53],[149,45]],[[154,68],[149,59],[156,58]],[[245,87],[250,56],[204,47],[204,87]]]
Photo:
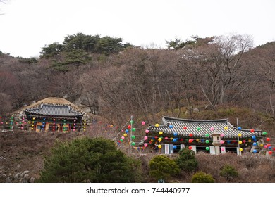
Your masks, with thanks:
[[[83,115],[83,113],[73,110],[71,106],[57,106],[49,104],[41,104],[41,106],[37,108],[28,108],[25,110],[25,112],[30,113],[32,115],[51,115],[62,117],[73,117]]]

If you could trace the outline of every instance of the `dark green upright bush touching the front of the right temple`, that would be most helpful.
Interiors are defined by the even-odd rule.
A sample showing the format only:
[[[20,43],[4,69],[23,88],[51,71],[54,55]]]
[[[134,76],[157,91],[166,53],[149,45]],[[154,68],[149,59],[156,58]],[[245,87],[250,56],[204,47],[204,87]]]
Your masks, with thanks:
[[[175,162],[181,170],[192,172],[197,168],[198,163],[194,151],[184,148],[181,149],[178,154],[178,158],[175,159]]]

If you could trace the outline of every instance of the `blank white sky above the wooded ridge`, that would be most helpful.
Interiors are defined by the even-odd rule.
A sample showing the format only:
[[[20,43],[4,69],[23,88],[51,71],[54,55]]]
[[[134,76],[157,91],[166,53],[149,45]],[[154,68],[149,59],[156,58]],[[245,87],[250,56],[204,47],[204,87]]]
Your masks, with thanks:
[[[78,32],[163,48],[193,35],[250,34],[257,46],[275,40],[274,10],[274,0],[6,0],[0,51],[37,57]]]

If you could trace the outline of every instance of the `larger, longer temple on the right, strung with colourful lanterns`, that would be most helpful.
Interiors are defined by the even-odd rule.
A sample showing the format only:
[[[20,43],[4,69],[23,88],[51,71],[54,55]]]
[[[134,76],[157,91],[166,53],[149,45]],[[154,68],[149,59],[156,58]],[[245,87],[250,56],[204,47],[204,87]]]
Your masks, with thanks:
[[[234,127],[228,119],[188,120],[166,116],[162,117],[161,125],[151,125],[147,129],[144,143],[161,144],[161,151],[166,154],[190,148],[195,152],[231,151],[240,155],[242,151],[250,151],[265,133],[259,129]]]

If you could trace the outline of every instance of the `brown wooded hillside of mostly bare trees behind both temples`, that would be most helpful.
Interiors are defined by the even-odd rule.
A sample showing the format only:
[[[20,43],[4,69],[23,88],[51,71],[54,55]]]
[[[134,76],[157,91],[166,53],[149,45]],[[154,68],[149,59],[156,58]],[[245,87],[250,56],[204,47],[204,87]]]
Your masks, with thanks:
[[[252,43],[250,36],[234,34],[143,49],[121,38],[78,33],[45,45],[39,58],[1,53],[0,115],[61,97],[117,125],[130,115],[152,124],[161,115],[216,118],[221,107],[260,113],[253,127],[272,125],[275,42]]]

